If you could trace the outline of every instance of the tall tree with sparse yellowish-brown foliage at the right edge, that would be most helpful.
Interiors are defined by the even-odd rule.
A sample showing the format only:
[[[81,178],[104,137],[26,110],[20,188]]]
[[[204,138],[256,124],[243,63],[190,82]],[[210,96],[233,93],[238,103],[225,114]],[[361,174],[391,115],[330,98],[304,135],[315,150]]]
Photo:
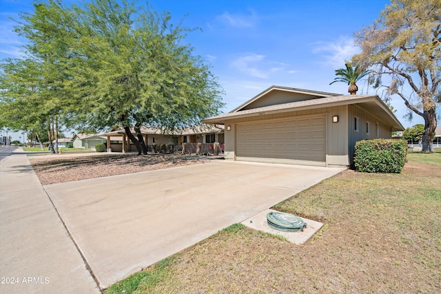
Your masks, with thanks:
[[[398,95],[409,118],[424,119],[422,149],[433,151],[441,102],[441,1],[391,0],[375,23],[356,34],[356,44],[362,52],[353,61],[371,67],[371,82],[387,90],[387,102]]]

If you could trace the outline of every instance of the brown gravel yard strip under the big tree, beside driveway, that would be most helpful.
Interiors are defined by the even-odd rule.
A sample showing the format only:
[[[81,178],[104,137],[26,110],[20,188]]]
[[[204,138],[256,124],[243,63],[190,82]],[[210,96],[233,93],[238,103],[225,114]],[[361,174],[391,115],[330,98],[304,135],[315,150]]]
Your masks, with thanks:
[[[146,156],[105,154],[66,157],[54,155],[29,158],[42,185],[196,165],[214,159],[216,159],[214,156],[182,154],[150,154]]]

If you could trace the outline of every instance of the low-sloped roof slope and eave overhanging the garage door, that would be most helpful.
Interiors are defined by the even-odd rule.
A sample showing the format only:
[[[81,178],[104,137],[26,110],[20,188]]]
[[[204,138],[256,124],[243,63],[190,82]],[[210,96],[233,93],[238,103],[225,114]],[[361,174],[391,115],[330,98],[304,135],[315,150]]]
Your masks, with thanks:
[[[219,116],[205,118],[203,120],[203,123],[225,124],[225,120],[233,118],[245,118],[250,116],[261,116],[263,114],[275,114],[349,104],[360,105],[360,107],[366,109],[368,112],[375,114],[378,118],[383,120],[384,123],[388,123],[389,125],[391,125],[392,131],[401,131],[404,129],[400,121],[391,112],[389,107],[387,107],[387,105],[385,105],[378,96],[369,95],[327,96],[324,98],[314,98],[304,101],[296,101],[291,103],[283,103],[253,109],[233,111],[227,114],[220,114]]]

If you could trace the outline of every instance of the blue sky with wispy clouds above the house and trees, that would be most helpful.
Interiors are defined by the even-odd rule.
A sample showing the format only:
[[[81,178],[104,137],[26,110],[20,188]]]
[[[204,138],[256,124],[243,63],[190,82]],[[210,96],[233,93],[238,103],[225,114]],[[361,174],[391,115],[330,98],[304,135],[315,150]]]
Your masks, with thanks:
[[[12,32],[18,12],[31,11],[30,0],[0,0],[0,59],[20,56],[25,40]],[[158,12],[170,11],[174,23],[189,28],[195,54],[212,65],[228,112],[271,85],[347,94],[334,83],[358,48],[353,33],[377,19],[388,0],[152,0]],[[376,94],[360,81],[358,94]],[[380,94],[380,93],[378,93]],[[406,107],[392,101],[404,127],[422,123],[403,118]],[[18,140],[21,134],[13,135]],[[17,137],[17,138],[16,138]]]

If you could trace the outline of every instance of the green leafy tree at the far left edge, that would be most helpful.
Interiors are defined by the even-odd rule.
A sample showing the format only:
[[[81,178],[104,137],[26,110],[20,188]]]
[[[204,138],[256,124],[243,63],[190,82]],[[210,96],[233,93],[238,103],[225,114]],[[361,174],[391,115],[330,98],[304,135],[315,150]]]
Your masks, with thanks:
[[[48,132],[56,139],[63,111],[72,102],[64,83],[68,74],[60,62],[68,47],[57,35],[54,10],[34,4],[34,13],[23,13],[15,32],[28,39],[21,47],[25,59],[5,59],[0,63],[0,121],[14,131]],[[55,148],[56,149],[56,148]]]

